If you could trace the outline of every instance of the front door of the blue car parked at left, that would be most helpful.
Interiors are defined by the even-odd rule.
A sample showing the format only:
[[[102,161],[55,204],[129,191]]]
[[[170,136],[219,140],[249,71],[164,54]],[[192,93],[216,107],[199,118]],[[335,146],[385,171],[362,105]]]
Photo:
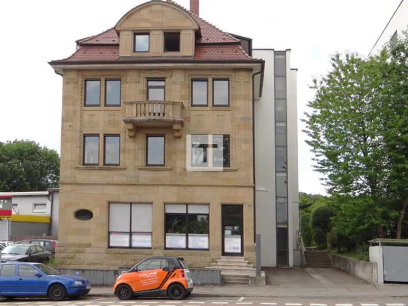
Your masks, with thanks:
[[[36,275],[37,274],[37,275]],[[41,276],[39,276],[41,275]],[[29,264],[19,264],[17,268],[17,292],[27,295],[45,295],[47,277]]]

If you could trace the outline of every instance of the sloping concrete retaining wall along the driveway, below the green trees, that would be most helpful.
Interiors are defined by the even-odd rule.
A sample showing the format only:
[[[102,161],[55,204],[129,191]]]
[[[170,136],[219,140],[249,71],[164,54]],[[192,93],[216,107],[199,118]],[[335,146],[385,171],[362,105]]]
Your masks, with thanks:
[[[376,263],[363,262],[336,254],[330,254],[330,256],[333,267],[364,279],[370,284],[378,283]]]

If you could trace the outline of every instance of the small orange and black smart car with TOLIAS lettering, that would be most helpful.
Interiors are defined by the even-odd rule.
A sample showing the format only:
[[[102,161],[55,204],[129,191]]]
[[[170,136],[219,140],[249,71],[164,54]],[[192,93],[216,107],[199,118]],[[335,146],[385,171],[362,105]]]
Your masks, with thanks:
[[[193,291],[193,281],[183,258],[149,257],[119,275],[113,291],[121,300],[138,296],[168,296],[172,299],[182,299]]]

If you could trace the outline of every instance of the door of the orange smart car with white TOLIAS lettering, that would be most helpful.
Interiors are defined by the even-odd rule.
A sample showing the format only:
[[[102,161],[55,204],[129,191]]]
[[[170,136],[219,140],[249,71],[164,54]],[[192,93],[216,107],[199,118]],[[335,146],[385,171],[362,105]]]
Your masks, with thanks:
[[[161,258],[146,259],[137,266],[133,275],[133,291],[159,289],[167,273],[168,269],[162,269]]]

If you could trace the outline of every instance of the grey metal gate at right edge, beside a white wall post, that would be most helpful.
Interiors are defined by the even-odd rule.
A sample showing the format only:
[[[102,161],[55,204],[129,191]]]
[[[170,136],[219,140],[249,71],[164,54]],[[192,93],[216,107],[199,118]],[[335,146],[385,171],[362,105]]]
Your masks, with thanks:
[[[408,247],[383,246],[384,281],[408,282]]]

